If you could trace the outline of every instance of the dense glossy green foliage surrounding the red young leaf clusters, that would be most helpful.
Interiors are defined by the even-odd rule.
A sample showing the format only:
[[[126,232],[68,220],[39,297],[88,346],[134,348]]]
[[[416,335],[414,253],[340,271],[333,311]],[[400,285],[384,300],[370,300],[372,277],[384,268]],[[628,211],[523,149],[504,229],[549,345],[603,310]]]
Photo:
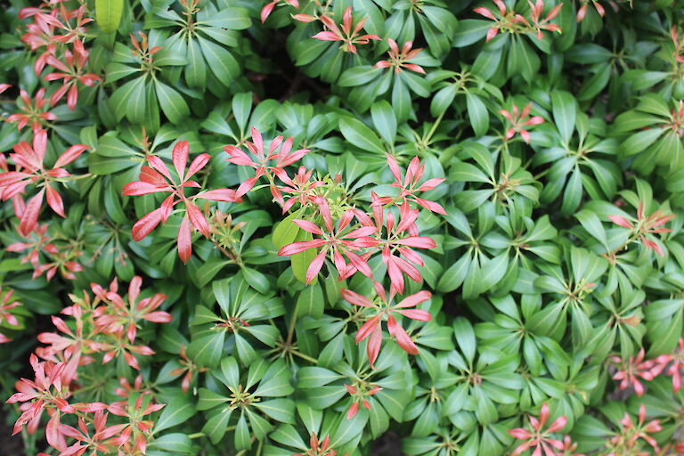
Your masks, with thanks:
[[[684,366],[677,363],[684,356],[681,2],[566,1],[548,23],[543,18],[560,5],[552,0],[536,21],[539,4],[524,1],[505,2],[503,19],[488,2],[323,4],[337,23],[351,6],[354,23],[366,18],[361,33],[381,38],[357,43],[355,53],[314,38],[321,21],[292,18],[321,13],[314,2],[297,10],[278,2],[263,25],[265,3],[256,1],[124,1],[118,25],[113,4],[98,6],[109,15],[74,32],[90,53],[85,69],[100,80],[77,84],[73,110],[66,99],[38,110],[53,113],[38,121],[48,132],[46,163],[75,144],[89,149],[69,164],[79,177],[59,185],[66,217],[50,208],[40,215],[56,252],[40,252],[48,266],[37,277],[21,261],[27,252],[7,248],[26,241],[12,202],[0,209],[2,287],[21,303],[10,310],[19,324],[0,321],[13,339],[0,346],[5,396],[32,375],[34,336],[53,330],[48,316],[69,305],[70,293],[116,277],[125,294],[124,284],[140,275],[145,296],[163,292],[161,308],[173,315],[165,324],[139,322],[138,340],[156,353],[137,356],[142,390],[167,404],[154,414],[148,454],[291,454],[305,452],[315,432],[330,436],[338,454],[365,455],[387,429],[402,436],[408,455],[509,454],[520,442],[508,431],[529,428],[526,415],[538,415],[543,403],[551,419],[566,417],[555,435],[572,436],[576,452],[655,453],[642,435],[620,440],[636,432],[621,419],[627,413],[636,423],[641,404],[648,420],[658,419],[657,432],[647,433],[658,454],[681,448],[684,393],[671,379]],[[41,8],[61,5],[80,4]],[[30,49],[26,39],[34,19],[19,12],[29,6],[38,5],[0,7],[0,81],[12,85],[0,95],[0,151],[10,167],[12,148],[34,136],[30,123],[18,128],[11,118],[36,116],[19,90],[33,97],[45,87],[47,98],[61,86],[45,80],[49,65],[34,69],[45,49]],[[95,6],[83,3],[86,18],[96,17]],[[482,7],[499,22],[475,11]],[[560,32],[538,30],[549,23]],[[141,31],[159,52],[132,53],[129,33],[141,42]],[[374,68],[387,59],[387,38],[422,48],[411,63],[426,75]],[[63,55],[69,45],[57,48]],[[518,122],[530,102],[530,118]],[[523,125],[531,118],[543,122]],[[425,195],[447,215],[422,210],[418,222],[436,248],[419,252],[421,280],[406,280],[406,294],[433,293],[419,306],[430,322],[403,320],[419,354],[404,353],[386,334],[371,370],[365,342],[354,340],[365,314],[339,295],[348,288],[372,296],[371,281],[356,274],[338,283],[330,265],[306,286],[301,270],[311,257],[290,263],[276,255],[305,234],[277,233],[284,216],[266,188],[240,203],[208,203],[207,211],[232,215],[232,228],[212,218],[209,237],[194,232],[186,265],[176,251],[181,216],[133,240],[134,223],[161,202],[122,194],[146,155],[169,162],[185,140],[191,156],[211,155],[197,177],[204,189],[237,189],[251,175],[226,162],[223,148],[251,141],[252,126],[267,140],[293,136],[294,149],[310,150],[300,163],[330,189],[339,212],[370,211],[371,191],[391,193],[386,153],[403,169],[417,156],[426,178],[445,178]],[[28,186],[25,197],[34,194]],[[667,224],[659,224],[663,216]],[[665,226],[672,231],[653,232]],[[385,277],[379,256],[371,267],[376,279]],[[248,326],[216,330],[227,317]],[[642,348],[654,361],[637,358]],[[187,360],[193,376],[185,394],[187,370],[178,369]],[[622,381],[621,371],[634,375]],[[110,403],[118,379],[137,375],[123,356],[83,366],[79,379],[93,387],[76,396]],[[226,417],[214,405],[229,396],[231,376],[242,384],[273,380],[268,397],[278,407]],[[645,393],[637,394],[641,383]],[[346,384],[383,389],[368,399],[370,410],[346,419],[354,403]],[[19,415],[16,406],[4,410],[8,424]],[[27,454],[45,450],[43,431],[21,437]],[[621,444],[623,452],[615,450]]]

